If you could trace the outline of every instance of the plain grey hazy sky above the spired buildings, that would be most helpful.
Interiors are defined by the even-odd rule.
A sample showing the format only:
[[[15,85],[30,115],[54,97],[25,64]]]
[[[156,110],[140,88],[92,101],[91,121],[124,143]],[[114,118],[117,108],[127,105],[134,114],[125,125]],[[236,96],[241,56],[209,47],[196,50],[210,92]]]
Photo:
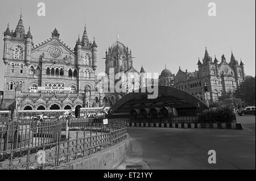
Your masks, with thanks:
[[[38,16],[38,3],[46,4],[46,16]],[[217,16],[208,15],[208,3],[215,2]],[[242,58],[245,73],[255,76],[255,0],[41,0],[1,2],[0,30],[7,23],[15,30],[22,6],[26,32],[31,26],[34,44],[51,37],[56,27],[60,39],[75,47],[86,22],[90,40],[98,45],[97,73],[105,71],[105,50],[119,40],[131,50],[134,68],[160,72],[164,64],[172,73],[195,71],[198,57],[204,56],[205,42],[210,56],[230,60],[231,50]],[[3,35],[0,56],[3,57]],[[0,90],[3,89],[3,60],[0,63]]]

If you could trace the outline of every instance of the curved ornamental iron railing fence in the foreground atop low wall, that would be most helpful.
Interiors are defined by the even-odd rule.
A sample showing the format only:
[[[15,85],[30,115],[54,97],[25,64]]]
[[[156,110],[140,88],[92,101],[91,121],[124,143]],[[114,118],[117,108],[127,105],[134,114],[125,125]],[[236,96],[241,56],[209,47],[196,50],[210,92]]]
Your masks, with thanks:
[[[80,120],[79,124],[75,123],[74,126],[80,129],[87,124],[89,124],[88,127],[93,127],[96,124],[104,127],[102,120],[86,121],[88,120],[83,120],[86,124],[81,124]],[[52,169],[126,140],[126,123],[123,123],[122,119],[109,120],[108,125],[105,125],[106,132],[104,134],[101,132],[101,134],[85,137],[84,133],[84,137],[64,141],[61,141],[60,132],[63,123],[56,122],[59,123],[57,124],[59,132],[57,132],[55,142],[43,142],[37,146],[23,146],[0,151],[0,169]]]

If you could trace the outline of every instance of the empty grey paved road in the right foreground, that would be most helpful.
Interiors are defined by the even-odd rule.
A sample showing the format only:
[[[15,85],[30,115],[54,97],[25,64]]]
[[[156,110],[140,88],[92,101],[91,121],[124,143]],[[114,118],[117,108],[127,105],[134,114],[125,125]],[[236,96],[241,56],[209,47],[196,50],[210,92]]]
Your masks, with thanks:
[[[127,128],[132,153],[115,169],[255,169],[255,116],[237,116],[243,130]],[[216,164],[208,151],[216,151]]]

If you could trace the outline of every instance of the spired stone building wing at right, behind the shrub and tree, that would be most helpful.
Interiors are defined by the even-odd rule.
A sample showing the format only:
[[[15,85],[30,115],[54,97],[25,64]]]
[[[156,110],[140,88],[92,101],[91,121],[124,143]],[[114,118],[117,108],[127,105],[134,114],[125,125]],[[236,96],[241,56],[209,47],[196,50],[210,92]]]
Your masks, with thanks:
[[[191,93],[201,100],[205,100],[204,86],[208,87],[210,93],[210,102],[218,99],[218,96],[232,94],[245,78],[243,62],[238,64],[232,52],[230,62],[226,61],[224,55],[219,62],[217,58],[209,56],[205,49],[203,62],[197,63],[198,70],[193,72],[179,69],[174,78],[174,87]]]

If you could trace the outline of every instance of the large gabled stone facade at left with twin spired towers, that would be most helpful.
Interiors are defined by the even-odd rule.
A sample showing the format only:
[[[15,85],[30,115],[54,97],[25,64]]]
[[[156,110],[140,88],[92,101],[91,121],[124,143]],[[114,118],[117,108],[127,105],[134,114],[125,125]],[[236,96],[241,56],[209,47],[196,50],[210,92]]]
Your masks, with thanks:
[[[97,44],[95,40],[89,42],[86,27],[74,49],[60,40],[56,28],[50,39],[34,46],[30,28],[25,33],[20,16],[15,31],[7,27],[4,32],[3,62],[2,108],[62,110],[92,107],[95,102]],[[58,91],[43,92],[38,90],[39,87]],[[69,91],[61,90],[65,87],[69,87]]]

